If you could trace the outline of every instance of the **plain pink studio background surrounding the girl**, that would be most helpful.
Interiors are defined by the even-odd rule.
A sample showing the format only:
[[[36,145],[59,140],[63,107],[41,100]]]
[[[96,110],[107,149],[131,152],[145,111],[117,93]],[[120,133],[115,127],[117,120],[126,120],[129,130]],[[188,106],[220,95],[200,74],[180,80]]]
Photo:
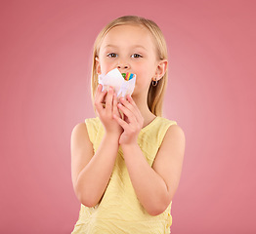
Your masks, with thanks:
[[[256,233],[255,1],[1,1],[0,233],[70,233],[70,134],[94,117],[93,42],[155,20],[169,46],[165,117],[187,144],[174,234]]]

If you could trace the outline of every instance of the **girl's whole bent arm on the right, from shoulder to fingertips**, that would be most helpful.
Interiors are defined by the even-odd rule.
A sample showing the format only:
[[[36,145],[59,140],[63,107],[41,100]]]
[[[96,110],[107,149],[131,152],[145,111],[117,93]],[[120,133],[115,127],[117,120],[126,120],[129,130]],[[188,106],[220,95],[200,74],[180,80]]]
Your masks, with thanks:
[[[168,129],[151,168],[137,143],[143,117],[134,100],[129,96],[127,99],[122,98],[122,104],[118,104],[126,121],[114,116],[124,129],[119,143],[138,199],[149,215],[159,215],[170,204],[179,184],[185,151],[184,132],[177,125]]]

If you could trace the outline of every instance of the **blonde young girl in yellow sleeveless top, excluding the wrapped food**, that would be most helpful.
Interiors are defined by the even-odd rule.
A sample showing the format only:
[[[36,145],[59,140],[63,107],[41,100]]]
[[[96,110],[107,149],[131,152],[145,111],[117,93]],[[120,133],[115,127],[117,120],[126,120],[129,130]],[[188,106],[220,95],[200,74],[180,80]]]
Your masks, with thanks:
[[[114,68],[137,75],[132,97],[117,99],[112,88],[98,85],[98,75]],[[167,49],[159,27],[134,16],[109,22],[94,46],[98,117],[77,124],[71,134],[72,183],[81,202],[72,234],[170,233],[185,135],[177,122],[161,117],[166,84]]]

